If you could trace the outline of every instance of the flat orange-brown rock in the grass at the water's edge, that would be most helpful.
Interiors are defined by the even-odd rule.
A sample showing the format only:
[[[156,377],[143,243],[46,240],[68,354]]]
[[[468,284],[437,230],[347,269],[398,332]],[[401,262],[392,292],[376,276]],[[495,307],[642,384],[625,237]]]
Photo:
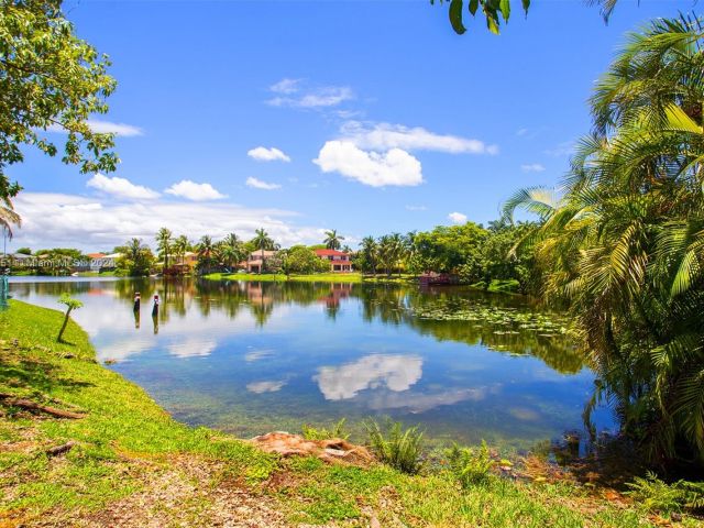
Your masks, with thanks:
[[[369,465],[374,457],[362,446],[355,446],[341,438],[329,440],[306,440],[300,435],[275,431],[250,440],[267,453],[282,457],[316,457],[326,462],[344,462],[353,465]]]

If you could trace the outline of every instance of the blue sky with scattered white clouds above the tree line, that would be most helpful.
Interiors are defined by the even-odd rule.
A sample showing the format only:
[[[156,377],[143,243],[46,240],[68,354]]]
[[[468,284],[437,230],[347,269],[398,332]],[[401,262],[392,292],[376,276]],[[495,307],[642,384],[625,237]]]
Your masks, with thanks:
[[[517,3],[516,0],[513,2]],[[590,131],[587,99],[626,33],[688,1],[516,8],[501,35],[446,2],[64,3],[118,89],[95,130],[117,172],[25,150],[8,174],[23,224],[9,250],[107,251],[161,227],[197,240],[263,227],[282,245],[486,223],[526,186],[556,186]],[[62,141],[61,131],[47,136]]]

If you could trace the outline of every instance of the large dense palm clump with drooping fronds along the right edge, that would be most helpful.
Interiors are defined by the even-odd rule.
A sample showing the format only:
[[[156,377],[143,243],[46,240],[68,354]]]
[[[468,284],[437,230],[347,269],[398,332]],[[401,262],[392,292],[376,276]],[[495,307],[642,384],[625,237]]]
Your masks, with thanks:
[[[594,131],[561,196],[525,189],[538,212],[524,244],[547,300],[566,300],[598,375],[587,406],[614,404],[651,462],[704,461],[704,31],[658,20],[592,98]]]

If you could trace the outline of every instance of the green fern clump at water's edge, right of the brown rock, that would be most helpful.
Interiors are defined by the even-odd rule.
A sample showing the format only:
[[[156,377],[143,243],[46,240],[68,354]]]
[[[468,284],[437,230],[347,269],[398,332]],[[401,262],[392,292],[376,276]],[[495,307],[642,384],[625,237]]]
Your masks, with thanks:
[[[372,451],[378,460],[404,473],[415,475],[422,468],[422,432],[418,427],[404,430],[400,421],[388,424],[387,437],[376,421],[364,422]]]

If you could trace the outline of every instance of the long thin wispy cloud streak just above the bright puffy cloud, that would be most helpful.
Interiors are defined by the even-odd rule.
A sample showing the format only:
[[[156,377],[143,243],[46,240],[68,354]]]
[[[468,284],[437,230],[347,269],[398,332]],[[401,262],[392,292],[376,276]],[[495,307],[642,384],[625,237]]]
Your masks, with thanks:
[[[487,145],[483,141],[457,135],[436,134],[421,127],[409,128],[403,124],[348,121],[340,129],[342,141],[350,141],[360,148],[386,151],[404,148],[407,151],[437,151],[450,154],[497,154],[498,146]]]

